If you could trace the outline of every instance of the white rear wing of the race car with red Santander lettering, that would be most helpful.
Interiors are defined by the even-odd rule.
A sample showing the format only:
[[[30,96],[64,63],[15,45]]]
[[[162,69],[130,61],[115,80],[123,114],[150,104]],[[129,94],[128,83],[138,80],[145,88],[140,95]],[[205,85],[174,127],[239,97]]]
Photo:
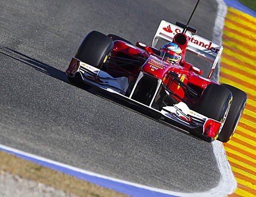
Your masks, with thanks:
[[[162,20],[153,39],[152,47],[155,47],[157,41],[159,40],[164,42],[172,42],[173,37],[176,34],[181,33],[182,30],[183,29],[181,27]],[[208,75],[208,79],[210,79],[217,62],[220,59],[223,47],[216,45],[215,43],[198,35],[192,35],[192,33],[188,30],[186,31],[186,35],[190,39],[190,42],[188,42],[187,45],[187,51],[212,62],[211,72]]]

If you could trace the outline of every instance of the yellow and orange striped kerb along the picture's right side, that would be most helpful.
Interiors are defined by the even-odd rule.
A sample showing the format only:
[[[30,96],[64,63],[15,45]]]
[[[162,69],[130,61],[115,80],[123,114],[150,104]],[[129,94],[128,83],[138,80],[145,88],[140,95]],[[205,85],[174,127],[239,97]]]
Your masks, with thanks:
[[[256,18],[233,8],[228,8],[226,18],[220,81],[245,91],[249,107],[224,148],[238,183],[233,196],[256,197]]]

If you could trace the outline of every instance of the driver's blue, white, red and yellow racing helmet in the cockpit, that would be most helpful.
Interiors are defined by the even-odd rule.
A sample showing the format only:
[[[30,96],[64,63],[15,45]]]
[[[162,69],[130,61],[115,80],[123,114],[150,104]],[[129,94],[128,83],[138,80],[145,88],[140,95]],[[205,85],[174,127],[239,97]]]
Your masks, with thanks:
[[[181,59],[181,49],[173,42],[168,42],[160,49],[162,57],[167,57],[167,61],[178,63]]]

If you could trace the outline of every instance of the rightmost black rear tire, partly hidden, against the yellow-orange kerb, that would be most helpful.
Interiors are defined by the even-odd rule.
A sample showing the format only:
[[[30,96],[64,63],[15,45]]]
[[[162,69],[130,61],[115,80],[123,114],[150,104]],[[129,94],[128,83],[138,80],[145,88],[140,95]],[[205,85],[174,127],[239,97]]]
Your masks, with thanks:
[[[225,120],[222,131],[217,138],[217,140],[221,142],[228,142],[234,135],[236,126],[242,116],[243,109],[245,109],[247,95],[245,92],[228,84],[222,84],[221,86],[228,88],[233,94],[233,101],[227,119]]]

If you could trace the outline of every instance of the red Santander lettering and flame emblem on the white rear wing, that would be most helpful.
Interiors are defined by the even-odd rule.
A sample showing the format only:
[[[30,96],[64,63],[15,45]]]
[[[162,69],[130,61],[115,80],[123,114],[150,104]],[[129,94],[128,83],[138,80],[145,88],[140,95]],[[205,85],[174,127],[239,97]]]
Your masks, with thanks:
[[[181,33],[181,30],[176,28],[175,30],[172,30],[171,29],[171,26],[168,25],[167,27],[164,27],[163,28],[164,31],[167,31],[168,33],[173,33],[173,35],[176,35],[178,33]],[[220,49],[217,49],[215,47],[212,46],[212,42],[207,42],[205,43],[204,41],[205,40],[200,40],[200,39],[194,39],[194,37],[190,37],[190,36],[187,36],[188,37],[188,40],[190,40],[191,43],[194,43],[195,45],[198,45],[202,48],[205,48],[205,49],[208,49],[208,50],[211,50],[211,52],[214,52],[214,53],[218,53],[220,51]]]

